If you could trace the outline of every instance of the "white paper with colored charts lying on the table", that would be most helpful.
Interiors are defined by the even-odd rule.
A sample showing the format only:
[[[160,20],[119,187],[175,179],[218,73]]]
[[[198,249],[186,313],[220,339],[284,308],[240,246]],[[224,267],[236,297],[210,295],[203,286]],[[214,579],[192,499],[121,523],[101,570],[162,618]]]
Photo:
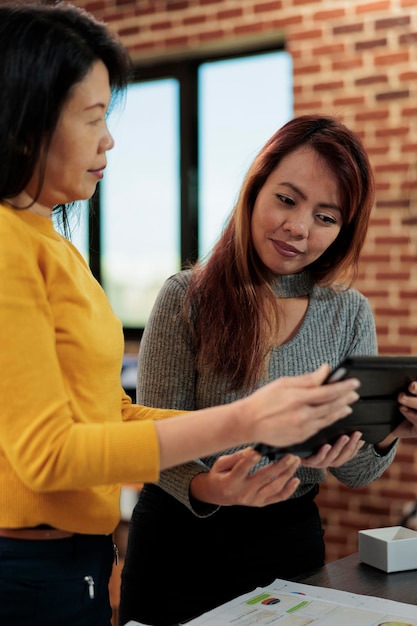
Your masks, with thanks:
[[[417,606],[277,579],[189,626],[417,626]]]

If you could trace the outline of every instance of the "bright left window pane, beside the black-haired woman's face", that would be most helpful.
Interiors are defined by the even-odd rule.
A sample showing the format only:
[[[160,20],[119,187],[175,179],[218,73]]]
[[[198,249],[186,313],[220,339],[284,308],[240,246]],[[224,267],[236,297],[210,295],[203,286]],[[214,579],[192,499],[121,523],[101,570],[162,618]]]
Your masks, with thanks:
[[[127,327],[145,325],[163,280],[181,266],[178,103],[176,80],[136,83],[109,123],[101,280]]]

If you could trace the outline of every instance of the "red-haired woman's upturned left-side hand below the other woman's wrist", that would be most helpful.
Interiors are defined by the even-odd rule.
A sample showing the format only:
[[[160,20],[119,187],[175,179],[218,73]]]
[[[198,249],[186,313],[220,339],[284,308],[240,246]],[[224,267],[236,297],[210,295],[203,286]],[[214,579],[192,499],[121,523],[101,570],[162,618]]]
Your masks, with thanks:
[[[300,458],[287,454],[251,473],[260,459],[251,447],[220,456],[209,472],[192,479],[192,497],[217,506],[263,507],[287,500],[300,483],[294,476]]]

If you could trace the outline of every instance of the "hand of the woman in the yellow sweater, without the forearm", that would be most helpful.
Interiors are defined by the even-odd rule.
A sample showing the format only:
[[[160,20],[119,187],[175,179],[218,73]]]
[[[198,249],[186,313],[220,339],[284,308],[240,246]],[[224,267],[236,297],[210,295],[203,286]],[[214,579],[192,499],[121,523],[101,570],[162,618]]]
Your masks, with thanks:
[[[323,385],[330,367],[301,376],[285,376],[238,400],[239,428],[246,441],[287,447],[305,441],[352,412],[359,394],[356,378]]]

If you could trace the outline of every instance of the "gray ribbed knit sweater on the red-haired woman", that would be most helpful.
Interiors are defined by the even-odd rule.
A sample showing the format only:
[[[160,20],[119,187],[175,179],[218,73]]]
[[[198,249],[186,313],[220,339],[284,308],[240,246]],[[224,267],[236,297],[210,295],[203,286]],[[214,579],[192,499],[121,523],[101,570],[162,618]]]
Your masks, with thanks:
[[[195,370],[189,330],[179,315],[189,277],[187,270],[169,278],[154,304],[139,350],[137,401],[140,404],[189,411],[225,404],[245,395],[228,391],[226,381],[218,376],[198,375]],[[272,349],[269,380],[313,371],[324,362],[335,367],[347,356],[377,353],[372,311],[368,300],[357,290],[314,286],[305,272],[280,277],[279,285],[281,295],[282,289],[287,297],[309,293],[310,301],[297,334]],[[396,448],[381,457],[372,445],[365,444],[354,459],[329,471],[349,487],[362,487],[381,476],[392,463]],[[158,484],[196,515],[210,515],[218,507],[190,500],[189,486],[196,474],[209,471],[217,456],[166,470]],[[267,459],[262,459],[259,465],[265,463]],[[297,476],[301,482],[293,497],[323,482],[326,471],[300,467]]]

